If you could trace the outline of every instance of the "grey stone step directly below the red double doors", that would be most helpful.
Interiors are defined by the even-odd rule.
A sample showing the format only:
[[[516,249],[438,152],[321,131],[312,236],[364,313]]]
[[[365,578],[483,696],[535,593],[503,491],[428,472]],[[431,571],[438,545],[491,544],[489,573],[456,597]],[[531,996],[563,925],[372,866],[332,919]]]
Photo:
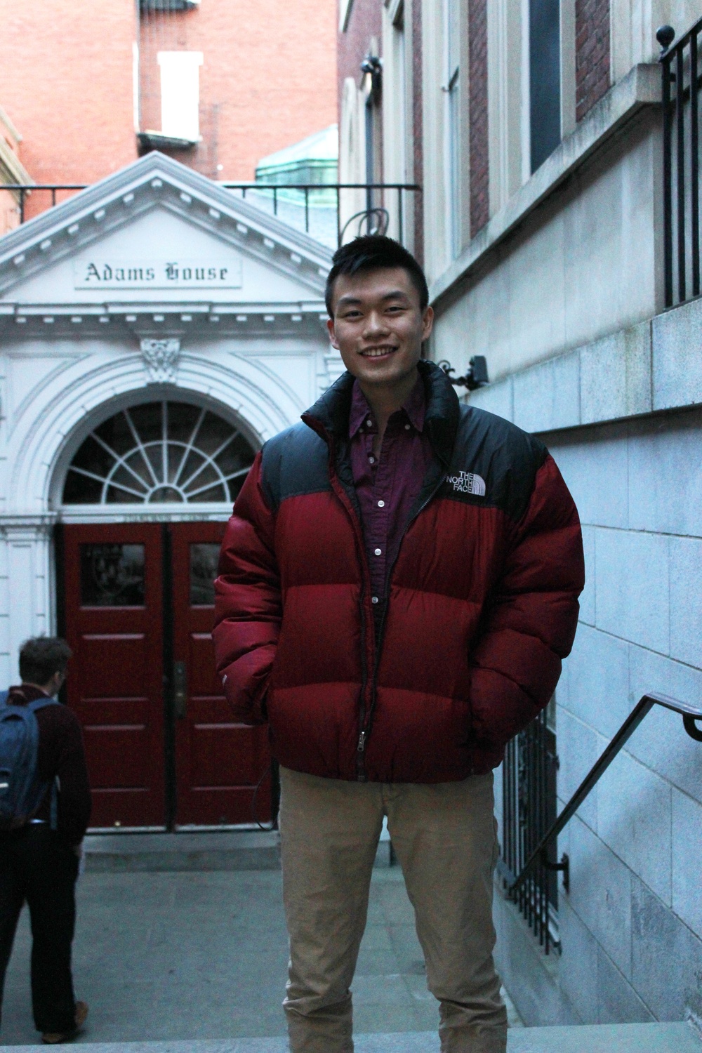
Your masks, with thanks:
[[[88,834],[83,841],[87,873],[126,871],[279,870],[277,830]],[[381,840],[377,867],[388,867],[390,842]]]

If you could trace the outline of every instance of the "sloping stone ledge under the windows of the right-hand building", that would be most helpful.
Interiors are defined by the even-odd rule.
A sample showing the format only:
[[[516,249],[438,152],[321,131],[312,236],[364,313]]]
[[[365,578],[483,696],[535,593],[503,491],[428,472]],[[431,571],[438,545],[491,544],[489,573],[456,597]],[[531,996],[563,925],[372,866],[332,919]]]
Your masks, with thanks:
[[[441,311],[441,301],[450,299],[483,257],[503,241],[560,184],[581,167],[596,151],[628,123],[644,106],[661,102],[661,67],[635,65],[618,84],[596,103],[575,132],[556,147],[531,178],[473,239],[430,285],[429,302]]]

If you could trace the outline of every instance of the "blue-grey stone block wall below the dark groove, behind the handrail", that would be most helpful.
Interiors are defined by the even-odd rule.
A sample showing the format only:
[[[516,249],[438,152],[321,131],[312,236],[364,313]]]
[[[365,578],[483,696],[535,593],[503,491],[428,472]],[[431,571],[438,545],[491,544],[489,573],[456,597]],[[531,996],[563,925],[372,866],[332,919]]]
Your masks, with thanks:
[[[702,702],[702,411],[550,449],[588,578],[556,696],[562,807],[641,695]],[[655,709],[559,842],[562,988],[584,1021],[702,1019],[701,845],[702,748]]]

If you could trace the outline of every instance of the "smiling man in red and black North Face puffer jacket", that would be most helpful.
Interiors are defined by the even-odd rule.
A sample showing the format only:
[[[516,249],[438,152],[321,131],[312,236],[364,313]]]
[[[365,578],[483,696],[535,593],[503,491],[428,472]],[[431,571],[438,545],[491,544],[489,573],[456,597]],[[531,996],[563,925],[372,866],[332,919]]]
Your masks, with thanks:
[[[217,581],[218,669],[280,762],[284,1001],[295,1053],[353,1050],[383,821],[446,1053],[503,1053],[493,769],[550,698],[583,587],[578,513],[543,444],[461,405],[422,360],[433,312],[388,238],[340,249],[347,372],[265,444]]]

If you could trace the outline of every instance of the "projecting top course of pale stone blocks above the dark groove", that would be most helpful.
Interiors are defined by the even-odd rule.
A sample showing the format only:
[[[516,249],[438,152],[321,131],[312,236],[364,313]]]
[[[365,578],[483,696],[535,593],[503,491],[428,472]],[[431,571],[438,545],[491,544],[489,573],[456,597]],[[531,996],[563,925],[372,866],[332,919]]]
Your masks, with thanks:
[[[513,373],[469,400],[541,434],[681,410],[702,403],[701,352],[698,298]]]

